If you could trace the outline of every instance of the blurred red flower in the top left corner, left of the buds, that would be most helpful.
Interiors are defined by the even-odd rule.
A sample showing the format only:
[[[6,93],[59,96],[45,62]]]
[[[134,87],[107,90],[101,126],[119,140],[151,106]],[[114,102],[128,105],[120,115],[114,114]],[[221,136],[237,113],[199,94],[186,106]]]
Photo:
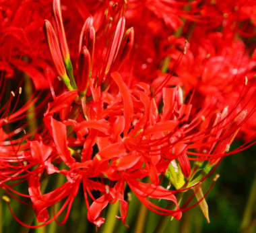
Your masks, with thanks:
[[[12,0],[0,3],[0,69],[7,71],[5,77],[13,77],[15,69],[27,73],[36,89],[48,88],[48,79],[53,79],[54,76],[51,75],[52,67],[46,62],[49,59],[42,43],[42,22],[49,14],[48,3],[48,0],[40,3]]]

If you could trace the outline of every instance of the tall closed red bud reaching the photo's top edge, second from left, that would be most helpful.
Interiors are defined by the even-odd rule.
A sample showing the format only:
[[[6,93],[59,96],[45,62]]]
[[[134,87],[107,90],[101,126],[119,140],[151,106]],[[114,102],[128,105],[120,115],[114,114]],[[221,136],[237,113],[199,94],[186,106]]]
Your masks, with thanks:
[[[61,47],[61,54],[63,56],[63,60],[68,63],[70,56],[69,56],[69,47],[67,46],[67,39],[65,36],[62,16],[61,16],[61,3],[60,0],[53,0],[53,28],[59,38],[60,47]]]

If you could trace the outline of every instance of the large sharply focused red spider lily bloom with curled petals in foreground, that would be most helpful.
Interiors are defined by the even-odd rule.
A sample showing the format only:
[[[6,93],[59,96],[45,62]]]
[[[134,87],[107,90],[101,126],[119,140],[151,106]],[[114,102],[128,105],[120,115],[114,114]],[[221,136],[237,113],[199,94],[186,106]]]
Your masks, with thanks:
[[[77,96],[75,90],[66,92],[49,104],[44,116],[44,123],[51,134],[47,139],[51,142],[48,145],[40,141],[30,142],[30,152],[26,154],[28,156],[31,153],[31,166],[39,166],[30,174],[29,192],[38,221],[46,221],[42,225],[57,218],[66,206],[67,220],[80,182],[84,185],[88,220],[96,226],[104,222],[104,218],[100,217],[102,209],[115,201],[120,201],[123,206],[121,218],[125,222],[125,182],[141,203],[152,211],[181,218],[183,209],[180,209],[174,194],[195,185],[194,172],[191,172],[189,162],[194,158],[190,156],[196,156],[196,160],[210,160],[212,164],[209,166],[213,166],[224,156],[226,145],[232,142],[237,129],[245,120],[246,112],[239,109],[233,110],[231,114],[224,110],[220,121],[218,114],[207,108],[193,114],[191,104],[183,104],[183,92],[179,87],[164,89],[164,107],[160,114],[154,98],[150,96],[150,86],[137,84],[135,89],[130,91],[119,73],[112,73],[112,77],[119,87],[120,94],[112,98],[106,108],[103,108],[102,104],[103,93],[98,96],[94,94],[91,100],[92,108],[103,108],[97,118],[86,121],[79,116],[76,119],[69,118],[70,115],[67,114],[67,119],[63,119],[63,122],[57,121],[54,118],[57,113],[72,104]],[[214,119],[216,116],[216,120],[203,121],[203,112],[207,119]],[[77,135],[77,139],[73,141],[67,133],[70,126]],[[214,147],[217,141],[218,145],[212,154],[193,154],[189,151],[191,148],[200,151],[201,147],[210,144],[210,147]],[[95,143],[99,150],[96,154],[92,149]],[[75,145],[83,146],[81,160],[77,160],[71,154],[70,148]],[[66,164],[68,169],[53,166],[53,162],[57,160]],[[170,191],[162,187],[160,177],[175,160],[181,167],[183,182],[178,183],[172,178],[177,191]],[[44,171],[64,175],[67,181],[50,193],[41,193],[38,179]],[[104,175],[106,180],[117,181],[116,185],[109,187],[104,180],[94,182],[90,179],[101,175]],[[146,177],[150,178],[152,184],[138,180]],[[199,178],[203,179],[203,176]],[[100,197],[94,198],[92,189],[102,192]],[[89,204],[88,195],[93,200],[92,205]],[[49,220],[47,209],[65,198],[67,199],[63,207]],[[172,210],[160,208],[152,204],[148,198],[166,199],[172,201],[176,207]]]

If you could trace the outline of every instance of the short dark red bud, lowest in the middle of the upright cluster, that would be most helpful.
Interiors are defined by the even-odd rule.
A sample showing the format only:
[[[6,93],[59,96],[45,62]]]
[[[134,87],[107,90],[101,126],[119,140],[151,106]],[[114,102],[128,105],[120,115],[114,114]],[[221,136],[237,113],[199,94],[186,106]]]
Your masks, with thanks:
[[[78,70],[77,70],[77,90],[79,96],[85,96],[89,84],[91,72],[91,58],[86,46],[84,46],[79,54]]]

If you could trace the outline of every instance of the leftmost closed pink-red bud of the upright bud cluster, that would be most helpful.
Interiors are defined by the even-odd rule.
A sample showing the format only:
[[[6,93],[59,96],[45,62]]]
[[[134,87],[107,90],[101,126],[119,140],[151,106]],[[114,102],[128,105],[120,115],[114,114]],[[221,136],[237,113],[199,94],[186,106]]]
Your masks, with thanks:
[[[51,23],[48,20],[44,20],[44,34],[48,42],[51,57],[57,69],[57,73],[63,77],[66,75],[66,70],[61,56],[61,51],[59,49],[59,42],[55,31],[53,30],[53,26],[51,26]]]

